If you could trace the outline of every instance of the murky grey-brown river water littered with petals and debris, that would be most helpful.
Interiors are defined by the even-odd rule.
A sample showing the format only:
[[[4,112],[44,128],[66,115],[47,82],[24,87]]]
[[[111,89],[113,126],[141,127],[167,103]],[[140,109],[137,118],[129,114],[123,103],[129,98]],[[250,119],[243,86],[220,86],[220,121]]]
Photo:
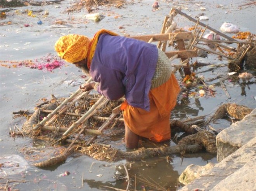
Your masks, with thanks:
[[[34,1],[36,2],[36,1]],[[231,22],[239,26],[240,31],[250,31],[256,34],[255,12],[256,6],[240,6],[251,1],[240,0],[159,0],[159,9],[153,10],[153,0],[127,1],[120,9],[116,7],[98,7],[93,13],[104,15],[100,22],[94,22],[85,18],[88,12],[82,9],[80,12],[67,13],[66,10],[75,1],[44,1],[40,6],[20,6],[21,3],[13,0],[0,0],[0,12],[5,16],[0,19],[0,60],[1,64],[12,66],[18,61],[40,60],[47,56],[55,55],[55,41],[65,34],[84,34],[92,37],[101,28],[115,31],[121,35],[157,34],[161,32],[165,15],[169,14],[171,7],[180,5],[182,11],[191,17],[196,17],[205,7],[203,12],[209,20],[205,24],[219,29],[223,22]],[[13,4],[12,4],[13,3]],[[31,3],[32,4],[32,3]],[[10,6],[9,6],[10,5]],[[240,7],[239,7],[240,6]],[[29,16],[28,10],[32,10]],[[42,24],[39,23],[42,21]],[[175,17],[178,27],[188,28],[194,25],[181,15]],[[39,23],[39,24],[38,24]],[[232,34],[229,34],[230,36]],[[51,54],[51,55],[49,55]],[[216,86],[214,97],[189,97],[186,101],[178,100],[171,118],[187,119],[213,113],[218,106],[227,102],[235,102],[254,109],[256,107],[255,71],[250,83],[241,81],[224,80],[231,99],[227,97],[220,85],[221,79],[216,76],[227,76],[227,60],[218,60],[214,55],[208,58],[194,58],[203,63],[211,63],[206,67],[195,69],[197,75],[204,76],[208,84]],[[174,63],[178,61],[174,61]],[[31,69],[18,66],[0,67],[0,155],[23,157],[22,148],[33,148],[38,151],[44,147],[43,142],[36,142],[31,138],[22,136],[13,138],[9,135],[10,128],[21,127],[26,119],[13,118],[12,112],[30,110],[36,104],[42,102],[42,98],[68,97],[78,89],[78,86],[70,86],[65,81],[81,80],[82,73],[71,64],[64,63],[61,67],[52,70]],[[179,81],[182,76],[177,72]],[[214,80],[211,80],[214,79]],[[224,79],[224,78],[223,78]],[[227,79],[227,78],[225,78]],[[192,91],[192,90],[191,90]],[[230,122],[224,119],[213,124],[216,129],[230,126]],[[112,140],[115,147],[125,150],[123,134]],[[167,142],[165,144],[174,144]],[[23,161],[23,160],[20,160]],[[190,164],[205,165],[208,162],[216,163],[216,156],[208,153],[187,155],[171,155],[155,157],[139,161],[122,160],[119,162],[101,162],[84,155],[72,155],[65,163],[46,169],[33,167],[28,162],[22,172],[17,174],[1,173],[0,187],[5,186],[7,179],[10,188],[19,190],[112,190],[104,186],[126,189],[127,182],[114,178],[119,166],[128,164],[131,178],[130,190],[176,190],[181,187],[178,184],[178,176]],[[20,164],[22,165],[22,164]],[[0,171],[1,168],[0,168]],[[69,171],[69,176],[63,173]],[[82,187],[82,188],[81,188]]]

